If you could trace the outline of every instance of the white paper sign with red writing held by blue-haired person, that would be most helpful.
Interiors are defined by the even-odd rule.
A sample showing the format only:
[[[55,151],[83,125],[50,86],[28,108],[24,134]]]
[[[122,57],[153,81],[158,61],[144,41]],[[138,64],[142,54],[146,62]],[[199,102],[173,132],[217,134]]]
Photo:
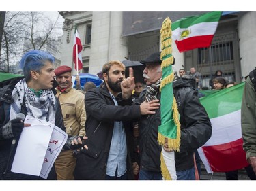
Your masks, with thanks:
[[[68,135],[55,124],[32,116],[24,122],[31,126],[23,128],[11,171],[46,179]]]

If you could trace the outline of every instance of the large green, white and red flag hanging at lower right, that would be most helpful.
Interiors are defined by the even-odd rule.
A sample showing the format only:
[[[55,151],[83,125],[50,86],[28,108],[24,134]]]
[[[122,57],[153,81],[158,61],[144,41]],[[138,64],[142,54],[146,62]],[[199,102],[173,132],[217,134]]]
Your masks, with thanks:
[[[212,122],[212,137],[198,149],[208,173],[248,165],[242,148],[241,103],[244,82],[200,99]]]

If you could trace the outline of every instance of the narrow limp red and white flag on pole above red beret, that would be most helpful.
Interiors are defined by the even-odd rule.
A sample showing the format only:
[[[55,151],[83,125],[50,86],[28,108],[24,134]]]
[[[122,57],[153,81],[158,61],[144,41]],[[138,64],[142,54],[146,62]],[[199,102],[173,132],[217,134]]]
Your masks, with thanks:
[[[83,68],[82,49],[83,49],[83,46],[81,44],[81,39],[79,38],[79,33],[77,31],[77,28],[75,28],[74,29],[73,62],[74,62],[74,69],[76,69],[76,71],[79,71]]]

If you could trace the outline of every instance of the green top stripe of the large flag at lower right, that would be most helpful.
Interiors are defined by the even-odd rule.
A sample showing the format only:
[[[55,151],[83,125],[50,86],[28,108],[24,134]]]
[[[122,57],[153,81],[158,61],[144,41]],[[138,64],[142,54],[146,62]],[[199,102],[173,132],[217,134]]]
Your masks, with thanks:
[[[240,110],[243,91],[244,82],[202,97],[200,101],[209,118],[216,118]]]

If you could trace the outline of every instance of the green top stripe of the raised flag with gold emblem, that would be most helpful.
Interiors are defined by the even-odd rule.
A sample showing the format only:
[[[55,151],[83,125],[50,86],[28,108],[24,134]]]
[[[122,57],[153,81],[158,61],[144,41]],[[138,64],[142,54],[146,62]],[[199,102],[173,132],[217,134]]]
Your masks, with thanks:
[[[222,12],[209,12],[205,14],[201,14],[198,16],[189,16],[184,17],[176,22],[171,24],[171,29],[174,31],[177,28],[186,29],[194,24],[199,24],[201,22],[218,22],[221,17]]]

